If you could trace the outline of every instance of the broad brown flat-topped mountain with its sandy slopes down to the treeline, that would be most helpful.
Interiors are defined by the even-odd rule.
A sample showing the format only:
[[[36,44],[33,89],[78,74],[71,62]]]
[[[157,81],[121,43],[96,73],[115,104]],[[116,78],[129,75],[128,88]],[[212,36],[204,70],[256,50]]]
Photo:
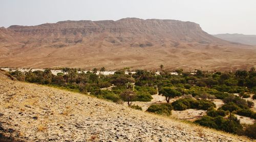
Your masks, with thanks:
[[[0,66],[108,70],[232,70],[256,64],[256,48],[204,32],[194,22],[124,18],[60,21],[0,30]]]

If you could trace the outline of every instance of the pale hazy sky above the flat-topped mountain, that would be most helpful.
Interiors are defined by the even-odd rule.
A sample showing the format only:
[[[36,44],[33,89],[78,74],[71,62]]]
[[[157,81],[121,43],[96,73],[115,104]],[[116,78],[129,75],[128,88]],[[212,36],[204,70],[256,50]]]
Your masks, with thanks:
[[[209,34],[256,35],[256,0],[0,0],[0,26],[62,20],[176,19]]]

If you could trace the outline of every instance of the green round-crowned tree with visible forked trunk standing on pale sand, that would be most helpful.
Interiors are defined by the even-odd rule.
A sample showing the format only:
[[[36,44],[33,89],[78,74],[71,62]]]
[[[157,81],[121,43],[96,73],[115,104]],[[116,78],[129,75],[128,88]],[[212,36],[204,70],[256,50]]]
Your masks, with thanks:
[[[163,87],[160,91],[159,94],[162,96],[165,96],[165,100],[167,103],[169,103],[171,98],[175,97],[180,97],[181,93],[177,90],[174,90],[170,87]]]

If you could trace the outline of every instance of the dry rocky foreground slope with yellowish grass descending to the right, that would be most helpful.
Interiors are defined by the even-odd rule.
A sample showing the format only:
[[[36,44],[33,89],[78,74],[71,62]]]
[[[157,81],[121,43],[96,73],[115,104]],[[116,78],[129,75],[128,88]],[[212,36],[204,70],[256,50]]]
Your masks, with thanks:
[[[151,115],[91,96],[12,81],[2,73],[0,102],[0,136],[9,139],[249,141],[244,137]]]

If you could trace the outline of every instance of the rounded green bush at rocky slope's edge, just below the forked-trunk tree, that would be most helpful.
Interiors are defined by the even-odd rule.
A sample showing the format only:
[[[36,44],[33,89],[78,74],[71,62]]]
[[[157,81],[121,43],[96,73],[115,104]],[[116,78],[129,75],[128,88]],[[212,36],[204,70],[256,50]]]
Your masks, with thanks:
[[[163,104],[153,104],[150,107],[147,108],[147,112],[153,112],[158,115],[164,115],[169,116],[172,115],[172,105],[169,103],[163,103]]]

